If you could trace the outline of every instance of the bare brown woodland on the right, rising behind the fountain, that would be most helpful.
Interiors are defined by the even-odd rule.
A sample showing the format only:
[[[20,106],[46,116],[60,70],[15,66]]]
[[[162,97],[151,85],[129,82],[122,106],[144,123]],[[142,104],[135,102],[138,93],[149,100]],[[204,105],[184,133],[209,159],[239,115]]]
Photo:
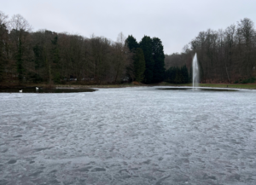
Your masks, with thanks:
[[[247,18],[225,30],[200,32],[183,53],[166,55],[166,69],[191,66],[197,53],[201,82],[253,83],[256,77],[256,31]]]

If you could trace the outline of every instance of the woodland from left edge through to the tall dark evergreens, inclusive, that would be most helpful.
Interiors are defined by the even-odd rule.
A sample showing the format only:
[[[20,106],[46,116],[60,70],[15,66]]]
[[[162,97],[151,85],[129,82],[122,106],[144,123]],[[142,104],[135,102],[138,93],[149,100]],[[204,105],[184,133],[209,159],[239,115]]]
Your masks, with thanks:
[[[131,48],[129,36],[115,42],[48,30],[32,32],[15,14],[0,12],[0,80],[2,83],[150,84],[164,79],[163,46],[159,38],[144,36]],[[129,48],[130,47],[130,48]]]

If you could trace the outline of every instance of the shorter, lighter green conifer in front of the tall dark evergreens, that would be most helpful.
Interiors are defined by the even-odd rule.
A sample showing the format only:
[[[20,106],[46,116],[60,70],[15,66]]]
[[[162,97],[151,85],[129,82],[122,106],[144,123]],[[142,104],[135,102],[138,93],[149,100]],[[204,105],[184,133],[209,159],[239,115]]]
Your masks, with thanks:
[[[134,57],[134,70],[135,70],[135,80],[137,82],[142,82],[145,72],[145,59],[143,54],[143,49],[136,49],[136,54]]]

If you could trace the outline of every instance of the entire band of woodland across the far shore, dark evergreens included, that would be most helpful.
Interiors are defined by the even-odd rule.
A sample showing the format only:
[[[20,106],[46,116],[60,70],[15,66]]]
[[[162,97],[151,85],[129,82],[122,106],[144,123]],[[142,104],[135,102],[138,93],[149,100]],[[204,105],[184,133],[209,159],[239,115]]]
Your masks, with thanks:
[[[119,84],[137,81],[191,82],[198,56],[201,82],[250,83],[256,77],[256,31],[240,20],[225,30],[200,32],[183,52],[165,55],[160,38],[140,42],[119,33],[117,40],[67,32],[32,32],[20,14],[0,12],[0,83]]]

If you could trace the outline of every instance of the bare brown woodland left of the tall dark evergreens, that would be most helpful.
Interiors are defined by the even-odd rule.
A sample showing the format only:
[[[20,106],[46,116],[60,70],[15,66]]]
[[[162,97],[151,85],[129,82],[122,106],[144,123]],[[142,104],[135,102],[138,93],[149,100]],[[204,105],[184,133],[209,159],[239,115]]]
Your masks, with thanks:
[[[131,65],[131,52],[119,33],[116,42],[104,37],[48,30],[32,32],[20,15],[10,20],[0,12],[0,80],[22,83],[119,83]]]

